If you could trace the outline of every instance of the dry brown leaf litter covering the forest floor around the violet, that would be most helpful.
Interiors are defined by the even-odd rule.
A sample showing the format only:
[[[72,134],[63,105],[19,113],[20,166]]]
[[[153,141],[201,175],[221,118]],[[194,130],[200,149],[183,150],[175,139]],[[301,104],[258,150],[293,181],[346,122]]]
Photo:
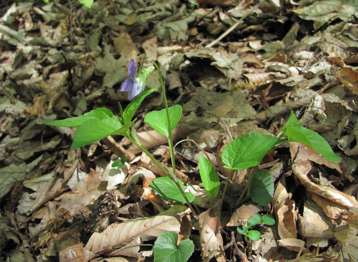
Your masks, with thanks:
[[[4,1],[0,8],[2,260],[150,261],[154,239],[169,230],[179,249],[194,241],[189,261],[358,261],[356,1],[124,0],[91,9]],[[150,188],[164,174],[130,141],[115,135],[73,150],[74,130],[43,125],[103,106],[119,113],[127,65],[145,58],[160,62],[170,105],[183,107],[175,157],[202,212],[198,222]],[[146,88],[158,86],[149,76]],[[160,91],[148,96],[135,128],[169,165],[165,136],[143,122],[162,105]],[[276,136],[290,110],[342,162],[299,141],[276,149],[259,165],[276,174],[271,203],[236,207],[250,172],[243,170],[229,182],[219,220],[219,201],[209,203],[200,179],[201,149],[227,180],[224,146],[251,132]],[[112,168],[122,155],[129,163]],[[261,239],[247,242],[235,227],[256,212],[276,224],[258,225]]]

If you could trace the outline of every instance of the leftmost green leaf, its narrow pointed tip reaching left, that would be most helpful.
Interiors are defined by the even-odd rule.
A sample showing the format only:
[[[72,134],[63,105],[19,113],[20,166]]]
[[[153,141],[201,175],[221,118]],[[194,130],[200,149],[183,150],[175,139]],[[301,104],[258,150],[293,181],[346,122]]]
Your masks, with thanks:
[[[45,122],[44,124],[50,126],[78,127],[82,123],[86,122],[87,120],[91,120],[91,119],[102,120],[106,118],[115,118],[115,116],[113,116],[111,110],[104,107],[100,107],[95,110],[91,110],[82,116],[76,116],[76,117],[66,118],[64,120],[58,120],[52,122]]]

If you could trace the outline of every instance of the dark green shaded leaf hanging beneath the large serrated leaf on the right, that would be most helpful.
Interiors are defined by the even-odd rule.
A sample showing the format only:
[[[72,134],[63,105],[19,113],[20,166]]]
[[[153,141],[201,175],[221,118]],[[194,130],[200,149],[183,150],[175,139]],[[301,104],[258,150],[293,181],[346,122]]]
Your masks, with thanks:
[[[267,205],[274,196],[274,179],[266,169],[259,169],[253,173],[247,190],[247,197],[259,205]]]

